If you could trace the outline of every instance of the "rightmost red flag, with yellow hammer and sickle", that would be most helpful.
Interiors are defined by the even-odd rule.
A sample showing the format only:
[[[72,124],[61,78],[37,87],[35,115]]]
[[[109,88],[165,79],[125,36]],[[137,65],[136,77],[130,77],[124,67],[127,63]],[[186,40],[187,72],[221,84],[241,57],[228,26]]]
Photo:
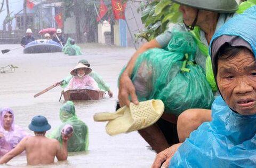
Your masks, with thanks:
[[[125,19],[126,2],[122,4],[121,0],[111,0],[114,18]]]

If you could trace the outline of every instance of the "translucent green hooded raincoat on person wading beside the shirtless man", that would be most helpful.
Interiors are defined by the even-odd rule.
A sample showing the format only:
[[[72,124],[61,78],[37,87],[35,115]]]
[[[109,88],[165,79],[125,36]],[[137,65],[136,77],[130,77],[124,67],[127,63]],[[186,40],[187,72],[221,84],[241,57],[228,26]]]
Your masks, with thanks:
[[[85,151],[89,146],[89,134],[87,125],[77,118],[75,106],[72,101],[67,101],[60,108],[60,119],[62,124],[48,137],[57,139],[62,144],[61,130],[66,124],[72,125],[73,136],[68,140],[68,151]]]

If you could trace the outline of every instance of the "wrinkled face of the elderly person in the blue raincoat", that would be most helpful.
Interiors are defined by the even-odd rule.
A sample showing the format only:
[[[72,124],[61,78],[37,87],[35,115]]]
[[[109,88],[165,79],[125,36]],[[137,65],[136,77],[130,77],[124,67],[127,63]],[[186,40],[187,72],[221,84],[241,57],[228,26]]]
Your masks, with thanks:
[[[241,51],[233,59],[218,60],[217,83],[227,105],[241,115],[256,114],[256,62]]]

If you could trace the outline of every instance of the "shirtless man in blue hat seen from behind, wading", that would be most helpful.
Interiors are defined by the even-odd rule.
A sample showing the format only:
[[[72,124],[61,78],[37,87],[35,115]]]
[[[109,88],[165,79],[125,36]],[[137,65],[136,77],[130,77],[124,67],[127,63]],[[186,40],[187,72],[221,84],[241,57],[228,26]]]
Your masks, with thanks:
[[[29,165],[51,164],[56,156],[58,161],[65,161],[68,157],[68,139],[62,135],[62,147],[58,140],[45,137],[51,125],[44,116],[35,116],[29,124],[29,129],[34,131],[34,137],[23,138],[18,145],[0,159],[0,164],[9,162],[13,157],[26,150]]]

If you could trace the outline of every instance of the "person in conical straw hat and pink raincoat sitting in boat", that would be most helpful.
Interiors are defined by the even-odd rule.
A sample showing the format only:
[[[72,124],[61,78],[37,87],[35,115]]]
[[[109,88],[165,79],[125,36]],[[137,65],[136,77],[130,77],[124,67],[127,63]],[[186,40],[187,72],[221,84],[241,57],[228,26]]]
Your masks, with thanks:
[[[74,77],[69,81],[67,90],[89,89],[99,91],[98,83],[88,75],[91,71],[92,69],[83,65],[83,63],[78,63],[70,72]]]

